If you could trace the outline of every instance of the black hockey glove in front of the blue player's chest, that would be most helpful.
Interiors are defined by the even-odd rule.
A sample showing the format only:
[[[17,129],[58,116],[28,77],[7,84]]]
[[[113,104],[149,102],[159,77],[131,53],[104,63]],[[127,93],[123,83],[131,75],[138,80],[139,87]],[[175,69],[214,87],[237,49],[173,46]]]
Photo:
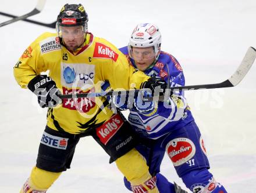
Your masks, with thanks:
[[[143,82],[140,86],[141,89],[151,89],[154,93],[155,88],[162,89],[160,93],[164,93],[167,87],[167,83],[160,77],[151,77],[146,82]]]

